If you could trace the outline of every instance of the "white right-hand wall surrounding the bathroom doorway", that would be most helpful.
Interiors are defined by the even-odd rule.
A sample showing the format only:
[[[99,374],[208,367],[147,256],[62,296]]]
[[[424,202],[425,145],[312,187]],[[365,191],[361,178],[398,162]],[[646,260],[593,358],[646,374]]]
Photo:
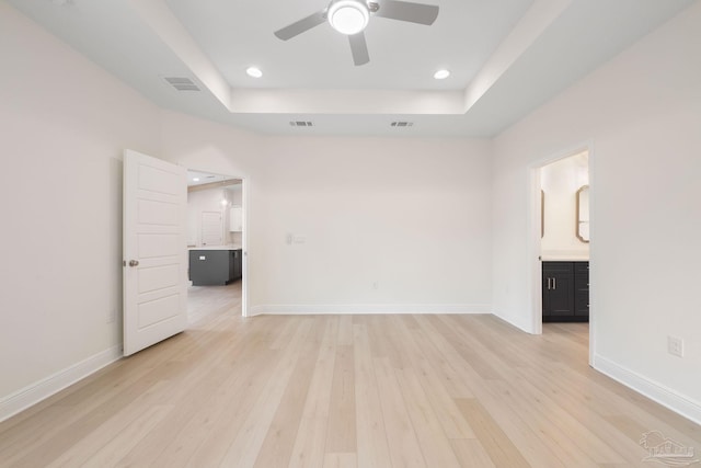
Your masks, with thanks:
[[[595,366],[701,421],[701,2],[495,141],[494,311],[532,330],[529,170],[591,145]],[[667,335],[686,340],[683,358]]]

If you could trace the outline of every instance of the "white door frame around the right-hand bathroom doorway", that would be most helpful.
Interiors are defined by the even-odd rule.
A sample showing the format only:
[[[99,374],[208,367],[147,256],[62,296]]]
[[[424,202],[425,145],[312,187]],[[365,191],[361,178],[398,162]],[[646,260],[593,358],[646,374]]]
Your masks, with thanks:
[[[533,334],[542,334],[543,323],[542,323],[542,262],[540,260],[540,249],[541,249],[541,222],[542,222],[542,212],[541,212],[541,181],[540,181],[540,170],[548,164],[560,161],[561,159],[568,158],[571,156],[577,155],[582,151],[588,152],[588,161],[589,161],[589,222],[591,225],[596,225],[596,214],[593,207],[595,206],[596,198],[596,184],[593,183],[593,173],[591,170],[595,165],[595,150],[594,150],[594,141],[586,140],[579,144],[573,145],[568,148],[564,148],[560,151],[551,153],[547,157],[543,157],[531,164],[528,165],[528,262],[527,262],[527,271],[526,277],[529,282],[529,292],[530,292],[530,301],[529,301],[529,313],[530,313],[530,323],[531,330]],[[596,242],[594,240],[589,241],[589,263],[596,264],[593,262],[596,259]],[[590,269],[589,283],[594,286],[591,290],[594,294],[589,292],[589,365],[594,365],[594,356],[596,355],[596,300],[594,297],[596,296],[596,276],[591,275],[591,273],[596,273],[596,265],[594,269]],[[594,277],[593,277],[594,276]]]

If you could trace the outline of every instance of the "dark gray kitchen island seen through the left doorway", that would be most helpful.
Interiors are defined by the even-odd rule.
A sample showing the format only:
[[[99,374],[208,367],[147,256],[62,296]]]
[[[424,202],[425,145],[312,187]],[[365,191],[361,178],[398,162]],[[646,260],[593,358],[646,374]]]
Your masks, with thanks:
[[[241,278],[241,250],[191,250],[193,286],[226,285]]]

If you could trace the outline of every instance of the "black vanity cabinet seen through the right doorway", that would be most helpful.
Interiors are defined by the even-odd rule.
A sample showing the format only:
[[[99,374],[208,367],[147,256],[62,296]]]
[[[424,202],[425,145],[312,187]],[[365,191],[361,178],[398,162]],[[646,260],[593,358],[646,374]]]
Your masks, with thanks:
[[[543,321],[589,320],[589,262],[542,262]]]

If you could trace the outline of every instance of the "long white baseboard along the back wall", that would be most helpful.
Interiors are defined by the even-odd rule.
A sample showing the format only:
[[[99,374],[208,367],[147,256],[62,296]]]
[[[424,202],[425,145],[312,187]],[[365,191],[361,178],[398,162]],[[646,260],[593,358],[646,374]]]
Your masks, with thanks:
[[[278,315],[370,315],[370,313],[492,313],[484,304],[334,304],[262,305],[249,309],[250,316]]]

